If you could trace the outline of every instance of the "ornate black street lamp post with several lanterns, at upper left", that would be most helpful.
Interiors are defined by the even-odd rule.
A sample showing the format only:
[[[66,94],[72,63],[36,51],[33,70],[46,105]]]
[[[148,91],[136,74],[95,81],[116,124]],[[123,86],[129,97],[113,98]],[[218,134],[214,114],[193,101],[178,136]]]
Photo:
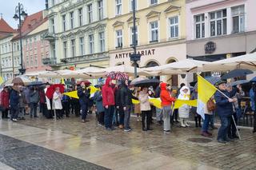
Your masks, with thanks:
[[[19,42],[20,42],[20,49],[21,49],[21,69],[18,69],[20,74],[24,74],[26,69],[23,68],[23,56],[22,56],[22,18],[26,18],[27,14],[24,11],[24,7],[21,3],[18,2],[18,6],[15,8],[14,19],[18,21],[18,30],[19,30]]]

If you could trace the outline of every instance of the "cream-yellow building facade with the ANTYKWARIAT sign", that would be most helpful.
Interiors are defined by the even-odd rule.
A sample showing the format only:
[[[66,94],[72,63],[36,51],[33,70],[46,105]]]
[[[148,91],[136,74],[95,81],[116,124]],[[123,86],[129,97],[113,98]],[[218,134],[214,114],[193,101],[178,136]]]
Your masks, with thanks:
[[[185,0],[135,0],[136,42],[142,55],[140,67],[164,65],[186,59]],[[110,66],[132,65],[133,0],[108,1],[108,49]],[[177,75],[161,77],[178,86],[186,78]]]

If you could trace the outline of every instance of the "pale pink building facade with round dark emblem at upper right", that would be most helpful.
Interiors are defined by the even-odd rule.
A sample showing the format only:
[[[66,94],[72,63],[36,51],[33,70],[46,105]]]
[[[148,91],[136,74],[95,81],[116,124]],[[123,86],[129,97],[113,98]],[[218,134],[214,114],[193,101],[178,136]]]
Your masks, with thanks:
[[[254,0],[187,0],[188,56],[217,61],[254,51],[255,6]]]

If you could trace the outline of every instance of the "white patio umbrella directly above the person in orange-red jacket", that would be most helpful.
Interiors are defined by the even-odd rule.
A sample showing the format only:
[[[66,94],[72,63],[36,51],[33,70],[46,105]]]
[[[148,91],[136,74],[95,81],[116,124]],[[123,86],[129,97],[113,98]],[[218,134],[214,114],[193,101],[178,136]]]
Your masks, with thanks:
[[[185,59],[182,61],[172,62],[166,65],[145,68],[142,69],[142,71],[158,75],[197,73],[202,71],[202,65],[207,63],[209,62]]]

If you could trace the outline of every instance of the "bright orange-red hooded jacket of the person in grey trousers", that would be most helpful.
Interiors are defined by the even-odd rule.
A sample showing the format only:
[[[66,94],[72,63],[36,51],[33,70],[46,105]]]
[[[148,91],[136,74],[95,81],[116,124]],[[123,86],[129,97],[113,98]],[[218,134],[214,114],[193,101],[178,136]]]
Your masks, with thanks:
[[[161,83],[160,88],[161,88],[161,93],[160,93],[160,98],[161,98],[161,105],[162,106],[169,106],[172,105],[172,103],[175,101],[174,97],[170,96],[170,93],[166,90],[166,83]]]

